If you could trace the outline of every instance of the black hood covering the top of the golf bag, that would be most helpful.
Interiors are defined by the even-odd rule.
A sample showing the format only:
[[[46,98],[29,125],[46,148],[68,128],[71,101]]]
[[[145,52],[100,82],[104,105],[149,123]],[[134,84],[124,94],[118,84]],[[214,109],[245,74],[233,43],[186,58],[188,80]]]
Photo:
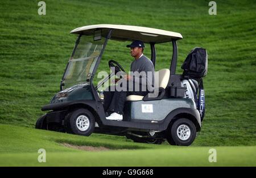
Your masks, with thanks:
[[[208,56],[204,48],[194,48],[185,59],[181,69],[183,75],[188,78],[200,79],[207,75]]]

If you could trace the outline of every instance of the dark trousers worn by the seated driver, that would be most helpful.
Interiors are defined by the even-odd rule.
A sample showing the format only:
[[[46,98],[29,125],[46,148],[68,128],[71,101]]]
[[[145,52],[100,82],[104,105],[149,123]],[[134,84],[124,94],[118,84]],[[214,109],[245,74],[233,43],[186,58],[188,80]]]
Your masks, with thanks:
[[[133,85],[135,86],[135,85]],[[126,96],[129,95],[141,95],[146,96],[148,91],[143,91],[142,87],[139,87],[139,91],[104,91],[104,110],[110,115],[113,112],[123,115],[123,108],[125,107]]]

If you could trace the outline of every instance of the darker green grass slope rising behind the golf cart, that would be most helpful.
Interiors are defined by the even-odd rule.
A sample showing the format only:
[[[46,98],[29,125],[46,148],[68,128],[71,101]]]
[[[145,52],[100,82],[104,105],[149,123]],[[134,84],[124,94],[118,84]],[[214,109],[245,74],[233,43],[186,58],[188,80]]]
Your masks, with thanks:
[[[44,16],[38,15],[38,1],[1,2],[0,123],[34,127],[42,105],[59,91],[76,40],[69,31],[89,24],[127,24],[180,32],[184,39],[178,41],[177,73],[192,48],[207,49],[207,110],[192,146],[255,145],[254,1],[216,1],[216,16],[208,14],[209,1],[45,2]],[[108,71],[110,59],[128,70],[132,59],[125,45],[110,43],[100,70]],[[156,70],[168,68],[171,45],[156,48]]]

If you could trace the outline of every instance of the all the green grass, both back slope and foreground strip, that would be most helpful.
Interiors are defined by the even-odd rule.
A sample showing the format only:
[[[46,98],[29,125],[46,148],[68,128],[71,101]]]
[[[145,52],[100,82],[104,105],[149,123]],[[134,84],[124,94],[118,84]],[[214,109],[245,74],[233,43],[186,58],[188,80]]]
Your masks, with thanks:
[[[1,166],[255,166],[256,3],[216,1],[4,1],[0,6]],[[190,147],[133,143],[125,137],[90,137],[33,129],[40,109],[56,92],[77,38],[69,32],[90,24],[125,24],[179,32],[177,73],[195,46],[208,52],[204,78],[206,115]],[[130,43],[127,41],[127,43]],[[98,70],[116,60],[128,71],[126,43],[107,46]],[[171,45],[156,47],[155,70],[169,68]],[[150,57],[146,46],[145,54]],[[72,145],[106,147],[85,151]],[[47,163],[38,163],[38,149]],[[209,149],[217,163],[209,163]],[[123,150],[125,149],[125,150]],[[88,161],[89,160],[89,161]]]

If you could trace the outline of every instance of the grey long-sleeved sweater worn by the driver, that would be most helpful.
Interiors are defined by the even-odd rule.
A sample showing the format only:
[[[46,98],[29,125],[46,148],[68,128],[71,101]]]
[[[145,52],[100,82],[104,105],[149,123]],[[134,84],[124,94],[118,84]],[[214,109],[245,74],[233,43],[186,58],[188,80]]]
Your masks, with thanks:
[[[153,91],[154,89],[154,65],[150,59],[148,59],[146,56],[141,56],[138,58],[138,60],[134,59],[134,61],[131,63],[131,71],[141,73],[144,71],[145,73],[137,74],[134,73],[134,82],[142,85],[147,85],[148,91]],[[151,73],[147,73],[151,72]],[[140,78],[140,79],[139,79]],[[147,81],[147,83],[142,81]]]

